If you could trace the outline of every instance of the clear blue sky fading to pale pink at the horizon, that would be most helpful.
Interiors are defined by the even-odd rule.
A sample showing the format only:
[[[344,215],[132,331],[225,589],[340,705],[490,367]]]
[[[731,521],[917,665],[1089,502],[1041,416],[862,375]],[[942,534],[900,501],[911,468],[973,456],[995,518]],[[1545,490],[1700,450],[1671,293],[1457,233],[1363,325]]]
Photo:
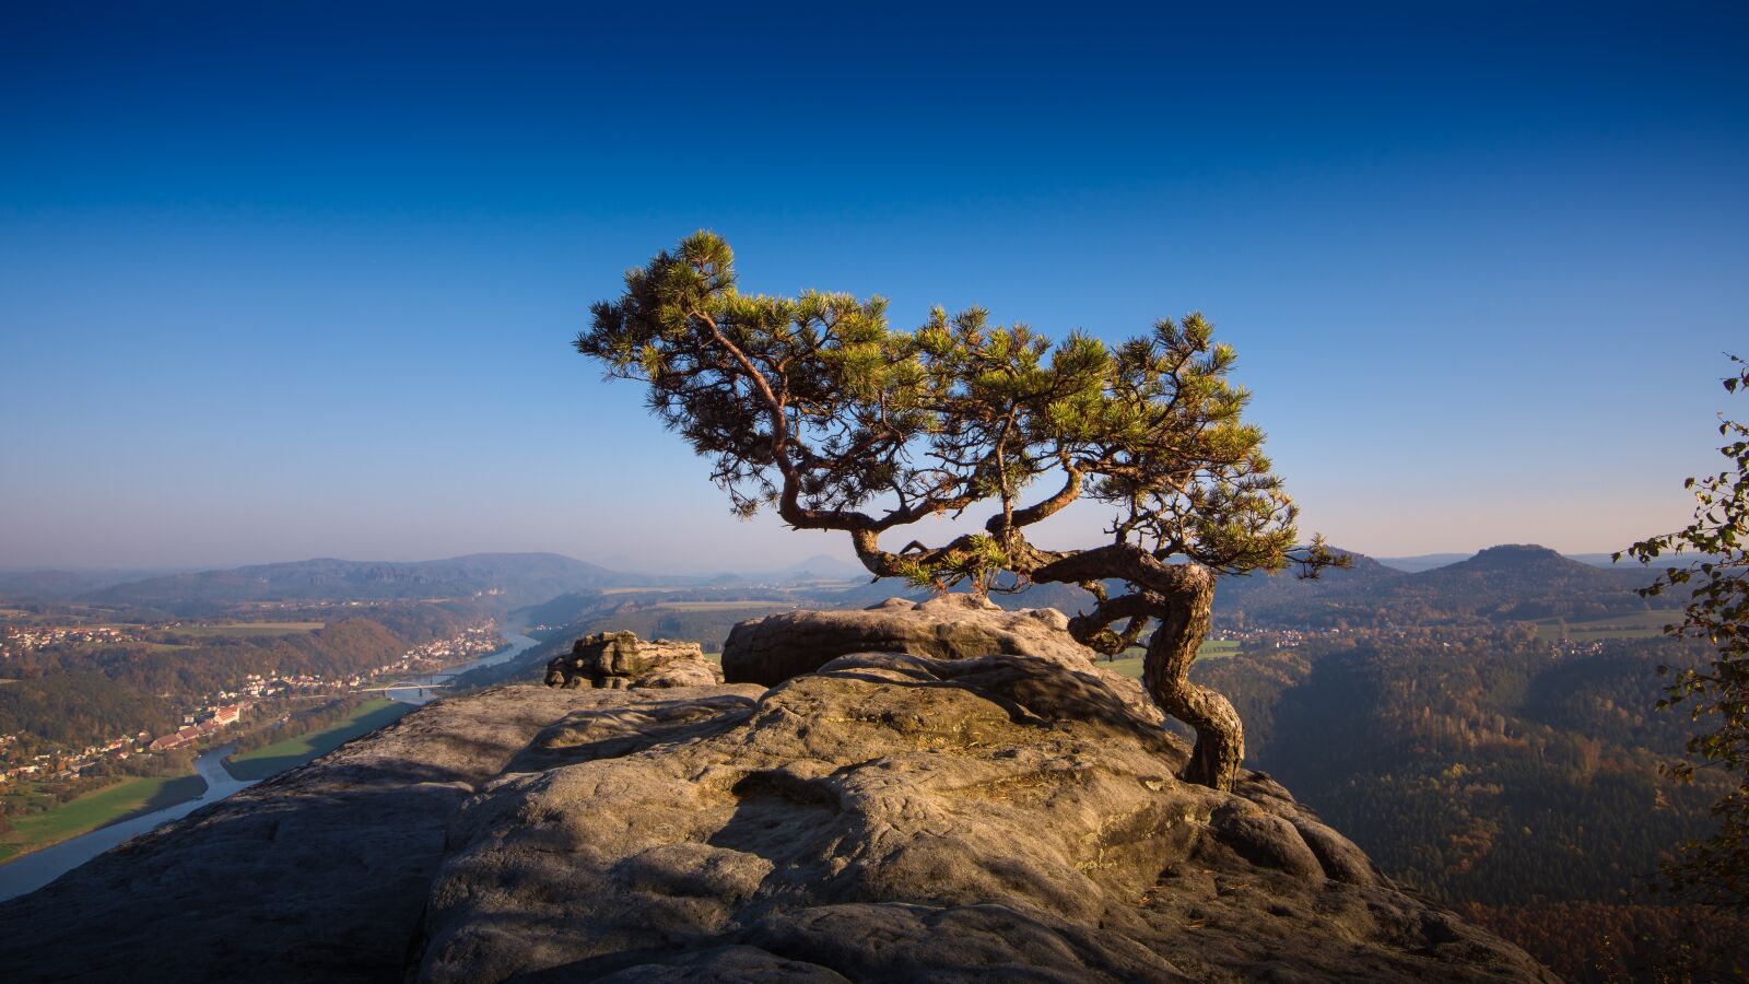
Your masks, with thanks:
[[[0,567],[850,557],[570,348],[700,228],[899,327],[1202,310],[1373,555],[1618,550],[1749,417],[1740,4],[588,7],[5,5]]]

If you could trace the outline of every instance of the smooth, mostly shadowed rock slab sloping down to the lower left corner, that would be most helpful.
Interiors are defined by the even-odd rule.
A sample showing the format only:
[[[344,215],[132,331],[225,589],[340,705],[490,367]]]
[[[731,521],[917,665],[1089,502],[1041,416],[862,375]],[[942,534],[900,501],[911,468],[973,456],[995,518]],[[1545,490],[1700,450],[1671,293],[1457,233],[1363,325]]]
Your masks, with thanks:
[[[603,711],[589,734],[616,755],[654,744],[637,707],[675,693],[745,713],[761,690],[437,700],[0,902],[0,979],[401,980],[462,802],[572,714]]]

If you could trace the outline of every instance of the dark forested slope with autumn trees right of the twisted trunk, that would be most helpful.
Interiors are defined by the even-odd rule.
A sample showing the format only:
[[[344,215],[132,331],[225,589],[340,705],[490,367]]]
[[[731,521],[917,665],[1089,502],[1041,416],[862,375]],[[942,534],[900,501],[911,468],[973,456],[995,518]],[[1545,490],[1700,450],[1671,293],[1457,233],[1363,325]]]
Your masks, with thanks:
[[[1254,648],[1200,662],[1198,678],[1233,697],[1256,769],[1392,877],[1513,931],[1551,905],[1644,905],[1658,860],[1707,830],[1719,788],[1660,776],[1688,721],[1653,707],[1656,667],[1702,657],[1693,643],[1481,623]],[[1555,959],[1595,951],[1592,933],[1614,926],[1618,956],[1644,961],[1681,938],[1620,937],[1639,924],[1662,923],[1586,910],[1520,942]]]

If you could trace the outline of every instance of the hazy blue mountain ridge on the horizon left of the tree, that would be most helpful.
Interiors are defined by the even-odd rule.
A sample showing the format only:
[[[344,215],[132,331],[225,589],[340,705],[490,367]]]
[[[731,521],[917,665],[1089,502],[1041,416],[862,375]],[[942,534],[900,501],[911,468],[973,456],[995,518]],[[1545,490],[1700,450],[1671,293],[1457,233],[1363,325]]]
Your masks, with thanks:
[[[229,571],[147,578],[94,590],[80,601],[135,604],[175,613],[252,601],[406,601],[479,597],[504,608],[537,604],[565,592],[637,583],[558,553],[472,553],[448,560],[296,560]]]

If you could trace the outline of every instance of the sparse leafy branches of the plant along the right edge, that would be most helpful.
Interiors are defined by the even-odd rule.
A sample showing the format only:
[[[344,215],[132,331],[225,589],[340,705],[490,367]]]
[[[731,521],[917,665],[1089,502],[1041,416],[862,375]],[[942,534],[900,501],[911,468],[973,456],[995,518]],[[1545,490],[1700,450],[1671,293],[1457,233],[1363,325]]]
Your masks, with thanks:
[[[1739,369],[1725,380],[1725,390],[1735,394],[1749,387],[1749,362],[1735,355],[1732,362]],[[1672,767],[1672,774],[1691,779],[1697,767],[1712,767],[1735,786],[1712,807],[1718,819],[1712,837],[1684,842],[1665,875],[1677,889],[1749,909],[1749,425],[1721,415],[1719,436],[1726,439],[1719,453],[1730,464],[1684,483],[1695,494],[1695,520],[1677,532],[1635,543],[1627,553],[1642,564],[1665,553],[1698,555],[1686,567],[1667,567],[1642,592],[1688,587],[1683,620],[1667,632],[1714,646],[1711,664],[1676,669],[1660,706],[1686,702],[1691,720],[1704,728],[1688,741],[1690,762]]]

